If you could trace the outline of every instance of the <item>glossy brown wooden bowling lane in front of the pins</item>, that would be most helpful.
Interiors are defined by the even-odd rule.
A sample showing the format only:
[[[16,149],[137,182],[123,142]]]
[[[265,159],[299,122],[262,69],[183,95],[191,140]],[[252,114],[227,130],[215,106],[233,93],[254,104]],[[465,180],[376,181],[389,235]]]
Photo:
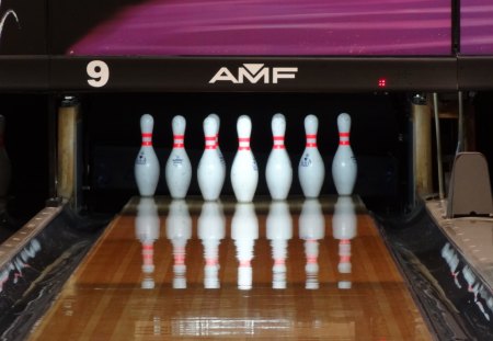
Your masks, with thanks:
[[[237,253],[238,246],[244,248],[245,242],[238,240],[252,236],[249,225],[254,223],[246,214],[252,207],[222,202],[225,238],[218,247],[220,268],[216,277],[220,288],[208,288],[214,281],[204,282],[206,263],[214,268],[216,262],[209,255],[206,262],[200,237],[220,232],[220,215],[218,219],[214,214],[218,206],[206,209],[198,200],[188,201],[187,206],[177,202],[170,206],[168,198],[157,197],[151,200],[157,206],[149,208],[133,197],[66,283],[30,339],[432,340],[363,203],[354,197],[345,205],[334,205],[336,200],[290,200],[288,206],[255,203],[253,221],[259,224],[259,238],[253,245],[252,286],[240,289]],[[283,271],[276,270],[276,279],[280,277],[276,285],[285,284],[285,288],[273,288],[273,247],[266,237],[272,238],[275,231],[279,236],[285,229],[284,236],[289,238],[289,224],[293,236],[285,249],[284,283]],[[150,248],[144,248],[136,234],[142,236],[147,229],[150,236],[152,226],[159,238],[153,242],[153,254],[149,254],[142,250]],[[352,237],[352,229],[355,236],[349,238],[351,243],[340,246],[334,236],[344,229],[346,236]],[[181,249],[180,238],[174,239],[173,247],[172,236],[190,238],[181,241]],[[323,238],[316,240],[319,237]],[[283,248],[276,250],[276,254],[283,254]],[[351,262],[351,270],[340,266],[341,259]],[[145,262],[153,263],[153,271],[145,273]],[[276,263],[282,265],[283,261]],[[246,266],[248,261],[242,259],[241,264]]]

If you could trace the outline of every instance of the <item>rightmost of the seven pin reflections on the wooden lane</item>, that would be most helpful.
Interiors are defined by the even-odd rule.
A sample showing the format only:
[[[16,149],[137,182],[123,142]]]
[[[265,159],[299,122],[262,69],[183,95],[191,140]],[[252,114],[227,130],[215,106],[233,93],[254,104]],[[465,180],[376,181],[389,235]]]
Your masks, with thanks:
[[[332,235],[339,240],[339,264],[340,273],[351,273],[351,239],[357,234],[357,217],[353,198],[351,196],[339,196],[332,216]],[[349,288],[351,282],[339,283],[341,288]]]

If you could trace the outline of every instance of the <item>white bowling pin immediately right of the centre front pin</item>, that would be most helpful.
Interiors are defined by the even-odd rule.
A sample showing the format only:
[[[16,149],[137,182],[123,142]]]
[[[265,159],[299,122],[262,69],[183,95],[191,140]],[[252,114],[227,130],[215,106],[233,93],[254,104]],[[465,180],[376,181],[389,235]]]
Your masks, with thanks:
[[[286,200],[291,187],[293,167],[284,145],[286,118],[283,114],[272,117],[272,135],[274,145],[268,155],[265,180],[273,200]]]

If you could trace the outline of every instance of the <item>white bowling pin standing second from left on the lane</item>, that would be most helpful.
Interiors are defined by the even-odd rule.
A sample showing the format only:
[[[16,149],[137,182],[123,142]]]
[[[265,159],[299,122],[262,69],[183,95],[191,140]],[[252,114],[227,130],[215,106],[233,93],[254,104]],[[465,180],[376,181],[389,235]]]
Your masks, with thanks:
[[[172,198],[184,198],[192,180],[192,164],[185,150],[185,117],[176,115],[171,122],[173,149],[165,166],[168,189]]]

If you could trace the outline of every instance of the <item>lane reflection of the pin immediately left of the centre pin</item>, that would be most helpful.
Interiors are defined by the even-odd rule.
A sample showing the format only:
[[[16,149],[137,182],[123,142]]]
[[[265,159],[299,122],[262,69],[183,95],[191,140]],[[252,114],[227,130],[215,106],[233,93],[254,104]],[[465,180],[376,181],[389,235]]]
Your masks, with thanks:
[[[197,225],[198,238],[204,246],[204,287],[218,288],[219,245],[226,234],[226,219],[221,206],[217,202],[205,202]]]

